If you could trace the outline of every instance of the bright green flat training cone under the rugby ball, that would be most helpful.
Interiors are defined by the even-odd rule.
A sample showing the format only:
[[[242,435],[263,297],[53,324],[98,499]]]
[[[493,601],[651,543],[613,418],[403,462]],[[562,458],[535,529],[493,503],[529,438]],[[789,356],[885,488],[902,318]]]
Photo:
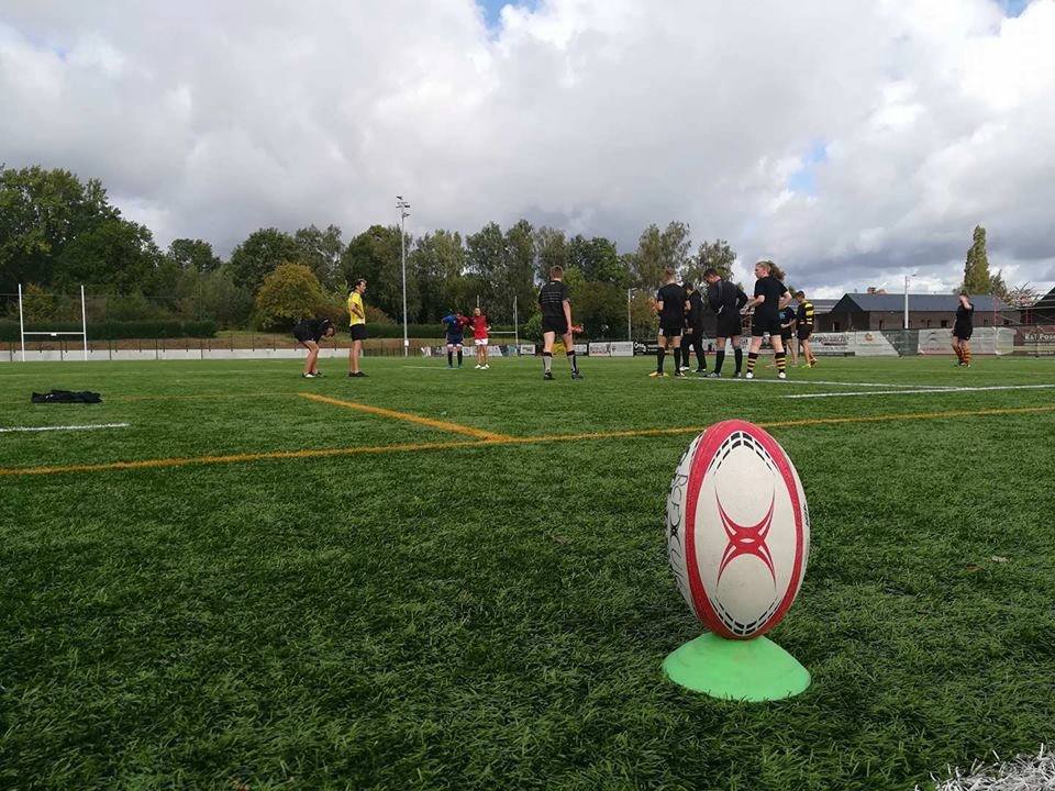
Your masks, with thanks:
[[[810,686],[810,672],[767,637],[731,640],[708,632],[663,662],[671,681],[723,700],[782,700]]]

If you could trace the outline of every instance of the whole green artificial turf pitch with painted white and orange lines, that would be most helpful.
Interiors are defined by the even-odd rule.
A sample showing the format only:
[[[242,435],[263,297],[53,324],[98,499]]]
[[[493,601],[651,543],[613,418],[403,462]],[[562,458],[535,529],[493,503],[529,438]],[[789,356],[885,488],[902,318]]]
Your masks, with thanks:
[[[0,428],[129,425],[0,433],[0,788],[907,789],[1055,738],[1055,360],[651,367],[3,365]],[[729,417],[813,516],[779,703],[660,671]]]

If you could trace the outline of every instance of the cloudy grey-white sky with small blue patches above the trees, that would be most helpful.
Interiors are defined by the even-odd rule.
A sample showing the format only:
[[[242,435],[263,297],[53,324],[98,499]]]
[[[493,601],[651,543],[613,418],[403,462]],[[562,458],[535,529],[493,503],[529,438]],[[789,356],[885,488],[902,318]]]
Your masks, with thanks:
[[[162,245],[521,216],[948,290],[1055,281],[1055,0],[0,0],[0,161]],[[747,278],[747,268],[741,270]]]

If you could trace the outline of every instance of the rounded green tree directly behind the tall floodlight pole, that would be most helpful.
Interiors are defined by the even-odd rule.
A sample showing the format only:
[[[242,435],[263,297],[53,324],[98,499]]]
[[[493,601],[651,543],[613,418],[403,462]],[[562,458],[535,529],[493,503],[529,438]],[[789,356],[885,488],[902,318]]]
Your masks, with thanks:
[[[418,315],[421,294],[418,280],[410,270],[409,254],[412,249],[410,234],[406,237],[408,252],[407,316]],[[341,256],[341,269],[348,285],[357,278],[366,278],[368,304],[380,308],[402,323],[403,288],[400,231],[398,225],[371,225],[354,237]]]

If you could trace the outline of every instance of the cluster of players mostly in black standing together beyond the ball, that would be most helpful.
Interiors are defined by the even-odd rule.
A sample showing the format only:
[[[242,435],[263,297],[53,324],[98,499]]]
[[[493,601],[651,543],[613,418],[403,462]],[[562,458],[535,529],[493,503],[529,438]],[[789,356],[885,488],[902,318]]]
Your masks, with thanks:
[[[691,282],[679,285],[674,269],[667,269],[666,283],[656,294],[656,314],[659,317],[657,337],[656,369],[648,376],[665,377],[664,363],[667,352],[674,354],[674,376],[684,377],[690,370],[689,357],[696,349],[697,374],[707,374],[707,354],[703,348],[703,311],[710,309],[718,319],[718,332],[714,346],[714,370],[709,377],[722,376],[725,363],[725,342],[733,344],[738,378],[743,369],[744,353],[741,347],[744,315],[751,314],[751,345],[747,352],[746,379],[755,378],[755,365],[765,336],[769,336],[774,350],[777,377],[787,379],[787,352],[790,348],[792,361],[798,360],[798,346],[802,346],[806,365],[813,367],[817,358],[810,347],[813,334],[813,304],[802,291],[795,294],[798,310],[790,307],[791,293],[785,287],[784,272],[770,260],[755,264],[755,294],[747,298],[736,283],[730,282],[715,269],[707,269],[703,280],[707,283],[707,298]]]

